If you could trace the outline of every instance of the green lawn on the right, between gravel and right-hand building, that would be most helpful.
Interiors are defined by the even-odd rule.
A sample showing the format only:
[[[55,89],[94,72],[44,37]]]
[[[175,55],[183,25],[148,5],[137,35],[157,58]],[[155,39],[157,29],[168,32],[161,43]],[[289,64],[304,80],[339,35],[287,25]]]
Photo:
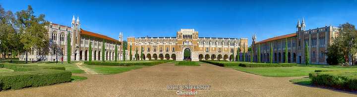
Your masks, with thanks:
[[[353,67],[292,67],[292,68],[235,68],[236,70],[267,77],[308,76],[309,73],[321,69],[357,70]]]

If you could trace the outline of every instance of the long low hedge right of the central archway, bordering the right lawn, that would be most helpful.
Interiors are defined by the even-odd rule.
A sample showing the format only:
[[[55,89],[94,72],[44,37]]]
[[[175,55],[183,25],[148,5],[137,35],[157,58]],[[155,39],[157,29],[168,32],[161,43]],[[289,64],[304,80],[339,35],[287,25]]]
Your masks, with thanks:
[[[296,66],[296,63],[250,63],[250,62],[235,62],[235,63],[224,63],[219,61],[209,61],[209,60],[200,60],[201,62],[206,62],[214,64],[217,66],[241,66],[241,67],[293,67]]]

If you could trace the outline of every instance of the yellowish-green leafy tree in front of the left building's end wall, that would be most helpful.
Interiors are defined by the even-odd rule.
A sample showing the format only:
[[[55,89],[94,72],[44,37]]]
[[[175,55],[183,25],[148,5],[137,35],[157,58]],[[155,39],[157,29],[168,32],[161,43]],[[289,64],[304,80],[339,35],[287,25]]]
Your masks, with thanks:
[[[35,16],[31,5],[28,5],[26,10],[17,11],[16,16],[16,26],[20,34],[19,41],[23,44],[21,51],[26,52],[26,63],[27,52],[31,48],[36,49],[36,55],[39,55],[38,57],[42,60],[49,53],[49,37],[45,28],[49,22],[44,19],[45,15]]]

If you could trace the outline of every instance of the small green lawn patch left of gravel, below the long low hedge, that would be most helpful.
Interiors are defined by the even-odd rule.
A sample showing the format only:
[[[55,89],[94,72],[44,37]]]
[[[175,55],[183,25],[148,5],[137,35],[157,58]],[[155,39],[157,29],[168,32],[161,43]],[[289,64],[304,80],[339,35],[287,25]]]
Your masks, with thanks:
[[[98,74],[117,74],[129,70],[142,68],[142,67],[128,67],[128,66],[97,66],[97,65],[81,65],[81,66],[93,70]]]

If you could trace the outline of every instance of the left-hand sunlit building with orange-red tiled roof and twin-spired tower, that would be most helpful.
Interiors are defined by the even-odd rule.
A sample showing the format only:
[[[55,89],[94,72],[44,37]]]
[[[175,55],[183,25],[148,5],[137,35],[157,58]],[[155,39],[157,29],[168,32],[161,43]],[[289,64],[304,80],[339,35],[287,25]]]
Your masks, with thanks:
[[[122,59],[122,34],[119,35],[119,40],[85,31],[80,29],[79,17],[75,20],[74,15],[71,22],[71,27],[52,23],[46,26],[49,35],[49,54],[39,55],[36,48],[31,48],[28,52],[29,61],[60,61],[67,60],[67,39],[69,36],[71,44],[71,59],[70,60],[89,60],[89,43],[92,43],[92,60],[102,60],[102,45],[105,45],[105,60],[114,60],[115,54],[118,54],[118,59]],[[115,53],[115,46],[118,43],[118,53]],[[26,60],[25,53],[20,54],[20,60]]]

